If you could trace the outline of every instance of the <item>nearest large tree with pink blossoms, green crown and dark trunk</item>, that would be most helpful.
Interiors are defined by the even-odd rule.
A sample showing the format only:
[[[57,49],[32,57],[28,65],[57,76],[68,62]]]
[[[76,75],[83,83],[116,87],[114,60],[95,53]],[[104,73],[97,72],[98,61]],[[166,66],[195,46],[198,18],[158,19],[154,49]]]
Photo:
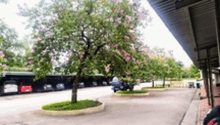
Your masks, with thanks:
[[[45,10],[19,6],[19,14],[29,17],[28,25],[34,29],[35,45],[29,60],[36,79],[51,72],[76,73],[75,103],[80,78],[96,69],[105,75],[112,69],[114,75],[128,75],[129,66],[139,64],[132,49],[138,44],[136,27],[148,19],[148,11],[139,5],[139,0],[132,5],[127,0],[53,0],[39,3],[37,7]],[[43,19],[37,16],[41,11]]]

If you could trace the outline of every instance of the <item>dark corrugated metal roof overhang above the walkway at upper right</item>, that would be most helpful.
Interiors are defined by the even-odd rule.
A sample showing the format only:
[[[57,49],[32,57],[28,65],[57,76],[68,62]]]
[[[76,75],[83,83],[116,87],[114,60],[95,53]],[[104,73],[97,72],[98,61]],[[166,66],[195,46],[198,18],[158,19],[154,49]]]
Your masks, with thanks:
[[[149,3],[198,68],[219,67],[214,0],[149,0]]]

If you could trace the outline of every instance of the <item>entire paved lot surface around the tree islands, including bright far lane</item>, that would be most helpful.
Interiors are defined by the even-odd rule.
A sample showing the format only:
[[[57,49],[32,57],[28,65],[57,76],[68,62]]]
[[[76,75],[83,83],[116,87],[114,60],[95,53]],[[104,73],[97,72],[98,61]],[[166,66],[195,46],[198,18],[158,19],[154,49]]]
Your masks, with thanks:
[[[141,84],[136,86],[140,89]],[[190,107],[196,89],[169,88],[148,97],[115,97],[110,86],[83,88],[78,99],[98,99],[104,111],[81,116],[42,116],[44,104],[70,100],[71,91],[0,97],[0,125],[179,125]]]

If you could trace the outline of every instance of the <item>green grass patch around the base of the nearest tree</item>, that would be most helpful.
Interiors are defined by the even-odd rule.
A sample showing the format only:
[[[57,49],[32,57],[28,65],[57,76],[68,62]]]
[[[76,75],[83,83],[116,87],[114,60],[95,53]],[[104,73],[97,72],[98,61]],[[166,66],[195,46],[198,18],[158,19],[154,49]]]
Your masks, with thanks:
[[[89,107],[95,107],[101,105],[100,102],[94,100],[80,100],[77,103],[71,103],[71,101],[58,102],[42,107],[43,110],[51,111],[67,111],[67,110],[79,110],[86,109]]]

